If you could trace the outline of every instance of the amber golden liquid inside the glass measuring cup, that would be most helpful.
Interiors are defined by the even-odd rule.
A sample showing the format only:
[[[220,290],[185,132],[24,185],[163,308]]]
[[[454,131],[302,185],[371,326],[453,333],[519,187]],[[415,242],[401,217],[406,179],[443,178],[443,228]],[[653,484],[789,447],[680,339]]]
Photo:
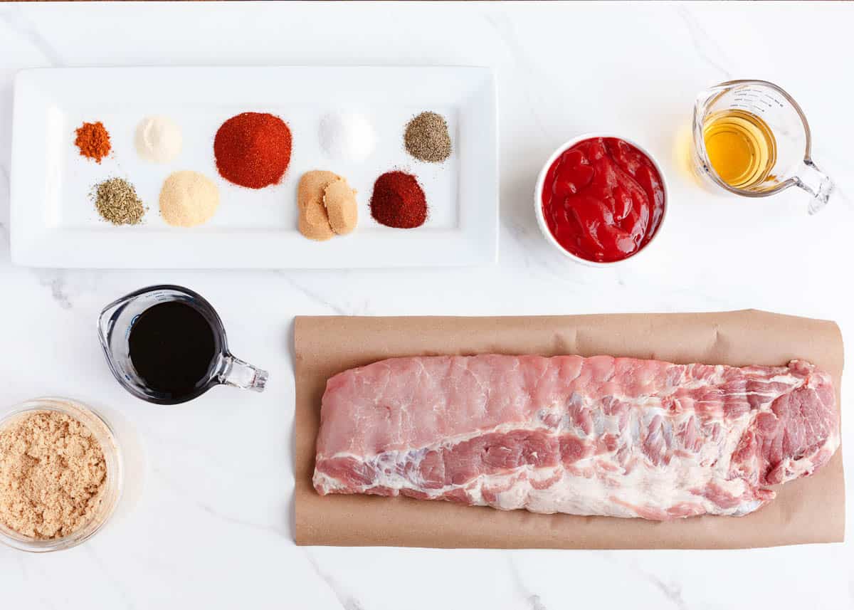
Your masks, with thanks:
[[[711,167],[730,186],[750,189],[769,178],[777,160],[774,132],[756,114],[740,109],[709,114],[703,140]]]

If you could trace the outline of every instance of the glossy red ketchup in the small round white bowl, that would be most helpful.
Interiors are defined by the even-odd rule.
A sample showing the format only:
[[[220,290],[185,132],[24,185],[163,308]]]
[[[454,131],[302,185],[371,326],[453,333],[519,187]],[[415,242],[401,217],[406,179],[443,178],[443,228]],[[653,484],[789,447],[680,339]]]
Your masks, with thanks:
[[[622,261],[658,230],[664,184],[652,161],[619,138],[582,140],[552,163],[542,190],[548,230],[570,254]]]

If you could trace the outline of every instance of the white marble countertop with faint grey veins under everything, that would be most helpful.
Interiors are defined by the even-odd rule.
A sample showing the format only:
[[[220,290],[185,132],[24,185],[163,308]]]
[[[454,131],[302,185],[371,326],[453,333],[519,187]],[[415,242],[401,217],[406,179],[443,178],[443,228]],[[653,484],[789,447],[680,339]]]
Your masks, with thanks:
[[[854,85],[850,53],[842,52],[852,28],[854,4],[845,3],[0,5],[0,405],[77,397],[136,439],[127,442],[136,448],[126,505],[97,537],[42,556],[0,548],[3,607],[854,606],[851,544],[717,552],[299,548],[290,531],[295,314],[752,307],[836,320],[854,343],[854,215],[844,201],[854,191]],[[494,66],[499,263],[239,273],[9,264],[16,70],[256,64]],[[714,196],[681,173],[675,142],[694,95],[734,78],[774,81],[803,106],[816,162],[838,184],[822,214],[808,218],[799,192],[759,201]],[[618,272],[560,260],[531,212],[542,161],[565,139],[595,129],[645,144],[670,178],[670,217],[655,254]],[[266,393],[218,388],[157,408],[120,389],[100,353],[97,313],[114,297],[163,282],[213,302],[235,353],[270,370]],[[847,355],[854,360],[851,349]],[[846,443],[854,440],[850,419]]]

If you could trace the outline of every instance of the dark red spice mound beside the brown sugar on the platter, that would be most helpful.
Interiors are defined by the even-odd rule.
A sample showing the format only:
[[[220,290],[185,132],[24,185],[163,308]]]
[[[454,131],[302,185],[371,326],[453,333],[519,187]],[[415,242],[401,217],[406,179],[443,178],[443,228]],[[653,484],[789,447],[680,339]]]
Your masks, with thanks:
[[[371,195],[371,216],[395,229],[414,229],[427,220],[427,200],[410,173],[386,172],[377,178]]]

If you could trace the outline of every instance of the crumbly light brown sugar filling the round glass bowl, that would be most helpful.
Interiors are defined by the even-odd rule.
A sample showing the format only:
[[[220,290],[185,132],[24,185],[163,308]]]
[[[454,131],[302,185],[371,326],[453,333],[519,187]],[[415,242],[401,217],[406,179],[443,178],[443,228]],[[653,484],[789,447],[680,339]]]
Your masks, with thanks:
[[[0,430],[0,523],[10,530],[73,534],[97,512],[106,479],[101,444],[78,419],[33,411]]]

